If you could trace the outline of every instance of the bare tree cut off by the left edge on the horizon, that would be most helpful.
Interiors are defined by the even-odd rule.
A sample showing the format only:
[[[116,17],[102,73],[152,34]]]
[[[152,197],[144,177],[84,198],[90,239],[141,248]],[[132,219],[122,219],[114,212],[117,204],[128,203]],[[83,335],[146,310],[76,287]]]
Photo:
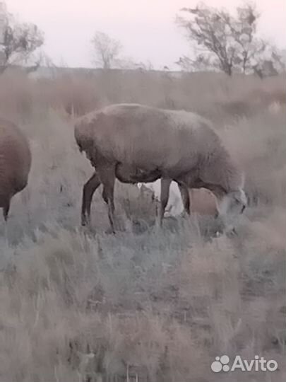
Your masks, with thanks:
[[[32,23],[20,23],[11,13],[1,14],[0,71],[8,66],[32,62],[32,55],[44,43],[44,34]],[[39,63],[40,64],[40,63]]]

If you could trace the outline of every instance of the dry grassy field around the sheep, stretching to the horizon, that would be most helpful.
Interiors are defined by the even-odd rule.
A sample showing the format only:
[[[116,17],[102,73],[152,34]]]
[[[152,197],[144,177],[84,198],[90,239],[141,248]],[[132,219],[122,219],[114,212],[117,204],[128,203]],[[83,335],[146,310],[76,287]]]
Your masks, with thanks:
[[[119,102],[200,112],[246,171],[238,235],[210,237],[193,216],[155,228],[155,202],[116,187],[121,230],[100,192],[80,226],[93,173],[73,115]],[[0,76],[0,115],[30,139],[28,187],[0,216],[0,382],[286,381],[285,76],[102,72]],[[213,373],[215,357],[255,355],[273,372]]]

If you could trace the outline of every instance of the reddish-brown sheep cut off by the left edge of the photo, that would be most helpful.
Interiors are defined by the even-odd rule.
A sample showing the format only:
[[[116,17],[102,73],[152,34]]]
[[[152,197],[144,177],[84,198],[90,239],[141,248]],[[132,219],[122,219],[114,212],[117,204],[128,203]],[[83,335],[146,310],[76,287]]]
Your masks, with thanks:
[[[11,198],[28,183],[30,166],[28,140],[16,125],[0,119],[0,208],[5,221]]]

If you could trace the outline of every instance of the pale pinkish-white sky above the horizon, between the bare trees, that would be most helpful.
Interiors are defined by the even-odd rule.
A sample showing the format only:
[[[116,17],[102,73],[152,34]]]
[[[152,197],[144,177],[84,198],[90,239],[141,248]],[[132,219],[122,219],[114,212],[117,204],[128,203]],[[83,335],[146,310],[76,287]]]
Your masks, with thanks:
[[[1,1],[1,0],[0,0]],[[121,41],[122,54],[136,62],[151,62],[155,69],[189,54],[184,31],[174,23],[182,7],[197,0],[6,0],[8,11],[20,21],[37,24],[45,34],[44,51],[52,61],[68,66],[92,66],[90,40],[100,30]],[[241,0],[205,0],[208,6],[233,11]],[[261,11],[262,37],[286,46],[286,1],[256,0]],[[177,67],[178,69],[178,67]]]

